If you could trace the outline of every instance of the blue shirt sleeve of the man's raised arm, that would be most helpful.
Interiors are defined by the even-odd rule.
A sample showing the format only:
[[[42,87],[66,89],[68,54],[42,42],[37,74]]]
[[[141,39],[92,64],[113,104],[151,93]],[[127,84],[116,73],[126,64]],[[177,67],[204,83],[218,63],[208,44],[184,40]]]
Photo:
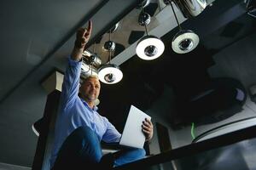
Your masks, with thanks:
[[[81,61],[68,58],[67,69],[61,89],[61,109],[66,110],[73,106],[79,94],[79,80],[81,74]]]

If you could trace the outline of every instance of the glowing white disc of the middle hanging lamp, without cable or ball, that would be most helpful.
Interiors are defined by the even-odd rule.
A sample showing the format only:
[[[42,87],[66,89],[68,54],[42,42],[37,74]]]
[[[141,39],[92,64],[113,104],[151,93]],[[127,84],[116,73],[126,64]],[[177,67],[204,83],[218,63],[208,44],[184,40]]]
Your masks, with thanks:
[[[154,36],[145,36],[138,43],[136,54],[139,58],[152,60],[160,57],[165,50],[165,44]]]

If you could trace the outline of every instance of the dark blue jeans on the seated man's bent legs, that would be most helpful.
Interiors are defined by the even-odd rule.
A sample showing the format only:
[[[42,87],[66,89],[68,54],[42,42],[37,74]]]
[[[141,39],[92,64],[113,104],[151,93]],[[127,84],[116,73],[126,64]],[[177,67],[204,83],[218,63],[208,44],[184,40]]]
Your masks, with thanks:
[[[119,153],[119,157],[113,161],[115,167],[142,159],[146,152],[143,149],[124,149]],[[102,147],[96,133],[90,127],[79,127],[62,144],[53,169],[95,167],[101,159]]]

